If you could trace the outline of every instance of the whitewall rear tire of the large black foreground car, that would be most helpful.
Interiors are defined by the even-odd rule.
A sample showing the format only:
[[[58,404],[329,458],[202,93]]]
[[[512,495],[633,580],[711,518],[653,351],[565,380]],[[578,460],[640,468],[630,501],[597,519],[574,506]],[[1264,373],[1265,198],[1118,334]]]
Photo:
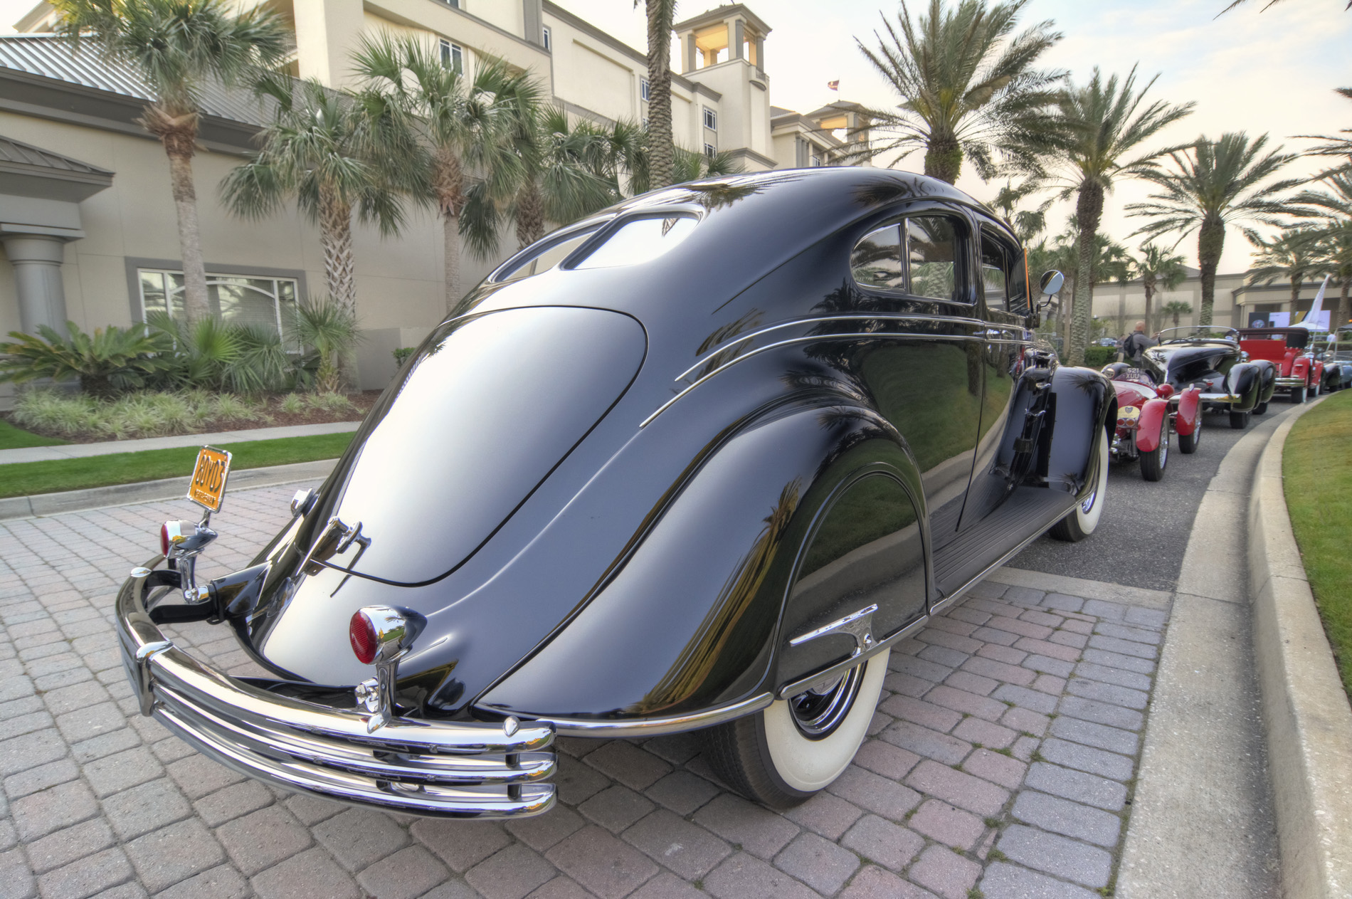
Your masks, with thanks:
[[[702,731],[710,765],[729,787],[771,808],[811,799],[854,760],[873,721],[890,656],[884,649],[841,677],[836,688],[852,691],[849,706],[825,735],[808,735],[795,712],[804,692]],[[845,684],[850,677],[857,680]]]

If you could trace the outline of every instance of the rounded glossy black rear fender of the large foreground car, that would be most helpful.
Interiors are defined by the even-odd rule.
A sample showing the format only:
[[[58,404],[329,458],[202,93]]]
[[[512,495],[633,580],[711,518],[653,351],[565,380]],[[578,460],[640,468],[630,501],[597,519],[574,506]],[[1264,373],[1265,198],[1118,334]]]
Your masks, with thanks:
[[[795,406],[746,426],[687,479],[576,618],[475,707],[625,721],[690,714],[772,689],[776,639],[833,621],[829,603],[786,612],[786,600],[821,514],[864,472],[886,475],[909,497],[923,496],[900,435],[871,410]],[[927,545],[923,500],[911,502]],[[923,608],[923,584],[921,591]],[[873,602],[882,638],[904,615],[887,599]],[[834,639],[813,642],[819,646],[794,660],[781,679],[852,649]],[[823,649],[831,658],[817,657]]]

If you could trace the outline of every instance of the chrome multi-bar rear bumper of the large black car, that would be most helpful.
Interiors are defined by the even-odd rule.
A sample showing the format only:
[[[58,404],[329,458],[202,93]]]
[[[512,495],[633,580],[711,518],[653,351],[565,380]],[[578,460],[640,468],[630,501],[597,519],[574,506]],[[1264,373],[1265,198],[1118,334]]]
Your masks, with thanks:
[[[556,768],[552,723],[392,718],[368,733],[364,714],[270,694],[183,653],[150,621],[145,592],[146,579],[131,577],[116,603],[141,712],[220,764],[285,789],[429,818],[553,807],[554,785],[541,783]]]

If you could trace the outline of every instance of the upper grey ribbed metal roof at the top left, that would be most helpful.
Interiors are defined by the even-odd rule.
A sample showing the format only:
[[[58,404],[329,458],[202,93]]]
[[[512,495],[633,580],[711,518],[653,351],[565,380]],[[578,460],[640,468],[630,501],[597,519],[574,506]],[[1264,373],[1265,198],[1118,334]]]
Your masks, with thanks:
[[[130,66],[104,59],[88,46],[74,53],[62,38],[53,35],[0,37],[0,70],[14,69],[95,91],[150,101],[150,85]],[[3,72],[0,72],[3,74]],[[208,82],[201,88],[201,111],[207,115],[245,124],[265,124],[261,101],[249,91]]]

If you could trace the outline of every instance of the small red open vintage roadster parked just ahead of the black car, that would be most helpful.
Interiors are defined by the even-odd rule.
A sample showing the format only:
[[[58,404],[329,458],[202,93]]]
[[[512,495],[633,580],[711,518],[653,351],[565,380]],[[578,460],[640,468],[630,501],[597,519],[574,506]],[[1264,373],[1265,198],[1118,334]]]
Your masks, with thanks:
[[[1197,452],[1202,439],[1202,391],[1187,387],[1175,391],[1148,369],[1126,362],[1103,366],[1103,374],[1117,391],[1117,431],[1113,460],[1141,460],[1141,477],[1157,481],[1169,461],[1169,434],[1178,431],[1179,449]]]

